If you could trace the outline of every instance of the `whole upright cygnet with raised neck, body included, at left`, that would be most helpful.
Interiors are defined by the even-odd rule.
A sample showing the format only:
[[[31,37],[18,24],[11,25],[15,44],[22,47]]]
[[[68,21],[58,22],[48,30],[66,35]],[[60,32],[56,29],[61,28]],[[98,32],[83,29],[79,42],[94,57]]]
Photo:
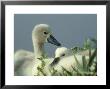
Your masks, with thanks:
[[[14,75],[30,76],[39,58],[45,56],[44,43],[48,42],[56,46],[61,44],[52,36],[51,28],[47,24],[36,25],[32,31],[32,42],[34,52],[18,50],[14,55]]]

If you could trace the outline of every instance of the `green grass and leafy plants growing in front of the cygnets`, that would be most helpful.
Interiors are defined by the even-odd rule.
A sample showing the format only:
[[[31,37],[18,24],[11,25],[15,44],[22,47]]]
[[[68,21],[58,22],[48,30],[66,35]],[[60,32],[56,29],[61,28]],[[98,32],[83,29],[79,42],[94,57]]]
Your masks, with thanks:
[[[94,46],[92,45],[94,44]],[[77,57],[75,54],[78,52],[84,51],[84,50],[89,50],[89,59],[87,61],[85,56],[82,56],[82,64],[79,63]],[[93,51],[93,53],[91,53]],[[96,39],[87,39],[83,47],[74,47],[72,48],[74,59],[77,63],[77,66],[72,67],[72,71],[65,69],[62,67],[62,71],[58,73],[57,70],[52,68],[50,71],[51,76],[97,76],[97,40]],[[45,67],[45,62],[43,61],[43,58],[40,59],[42,61],[41,67],[37,67],[39,70],[40,74],[43,76],[46,76],[46,73],[43,72],[43,69]],[[39,74],[38,74],[39,75]]]

